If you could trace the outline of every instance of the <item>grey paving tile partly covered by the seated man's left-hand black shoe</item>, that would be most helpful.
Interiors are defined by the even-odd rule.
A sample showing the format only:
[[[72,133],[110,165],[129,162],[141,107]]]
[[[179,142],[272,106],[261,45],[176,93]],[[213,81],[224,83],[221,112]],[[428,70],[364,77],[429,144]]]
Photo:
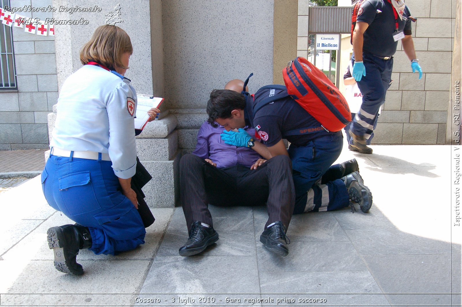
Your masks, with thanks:
[[[207,247],[201,256],[255,256],[255,235],[249,231],[219,231],[219,240]],[[188,240],[188,232],[167,231],[159,256],[178,256],[178,249]]]

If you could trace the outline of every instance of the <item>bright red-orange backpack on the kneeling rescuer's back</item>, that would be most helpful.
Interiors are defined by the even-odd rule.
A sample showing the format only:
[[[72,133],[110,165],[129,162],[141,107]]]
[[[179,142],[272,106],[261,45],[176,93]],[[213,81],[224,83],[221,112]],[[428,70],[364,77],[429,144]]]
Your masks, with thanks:
[[[282,70],[287,93],[328,131],[340,131],[351,121],[340,90],[316,66],[302,57]]]

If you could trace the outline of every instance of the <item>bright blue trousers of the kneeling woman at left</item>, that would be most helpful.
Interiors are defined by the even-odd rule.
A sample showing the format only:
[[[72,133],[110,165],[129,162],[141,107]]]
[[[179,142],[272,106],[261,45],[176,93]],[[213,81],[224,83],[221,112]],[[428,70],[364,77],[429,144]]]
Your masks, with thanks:
[[[144,244],[146,230],[121,191],[110,161],[50,156],[42,188],[51,207],[90,229],[95,254],[116,254]]]

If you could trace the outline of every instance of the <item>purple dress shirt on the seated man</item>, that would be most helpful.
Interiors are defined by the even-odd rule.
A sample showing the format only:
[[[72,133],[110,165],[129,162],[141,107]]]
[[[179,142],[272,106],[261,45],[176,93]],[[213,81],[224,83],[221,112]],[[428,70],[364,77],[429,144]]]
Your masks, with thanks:
[[[245,131],[255,139],[255,129],[244,127]],[[220,134],[225,130],[223,126],[214,128],[207,121],[204,122],[197,134],[196,149],[193,154],[202,159],[210,159],[222,169],[236,164],[251,167],[261,156],[249,147],[236,147],[225,144]],[[260,141],[260,140],[256,140]]]

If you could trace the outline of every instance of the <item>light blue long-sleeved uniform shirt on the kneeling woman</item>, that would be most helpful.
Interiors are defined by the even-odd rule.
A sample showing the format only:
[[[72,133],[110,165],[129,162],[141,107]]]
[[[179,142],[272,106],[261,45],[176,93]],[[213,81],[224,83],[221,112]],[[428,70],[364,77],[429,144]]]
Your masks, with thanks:
[[[129,82],[94,65],[84,65],[69,76],[58,99],[50,147],[108,153],[116,176],[131,178],[136,167],[137,101]]]

